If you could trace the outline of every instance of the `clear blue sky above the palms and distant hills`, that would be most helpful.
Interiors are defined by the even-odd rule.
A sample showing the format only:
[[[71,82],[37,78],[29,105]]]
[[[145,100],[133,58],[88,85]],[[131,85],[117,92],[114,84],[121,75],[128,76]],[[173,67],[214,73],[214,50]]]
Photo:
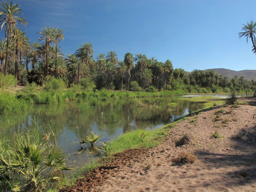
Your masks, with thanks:
[[[8,0],[8,2],[10,2]],[[170,59],[186,71],[256,69],[251,43],[238,38],[242,24],[256,21],[255,0],[14,0],[37,41],[41,28],[63,29],[64,54],[90,42],[94,54],[115,50]],[[4,36],[4,32],[0,32]]]

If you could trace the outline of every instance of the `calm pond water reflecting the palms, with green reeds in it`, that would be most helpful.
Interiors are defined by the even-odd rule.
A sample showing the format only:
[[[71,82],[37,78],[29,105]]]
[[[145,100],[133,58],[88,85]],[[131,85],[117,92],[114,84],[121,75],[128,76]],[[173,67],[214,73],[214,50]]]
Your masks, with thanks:
[[[12,116],[0,116],[0,131],[9,139],[15,134],[31,132],[38,127],[40,137],[53,130],[58,145],[68,154],[68,165],[79,167],[91,158],[93,151],[78,143],[90,131],[100,134],[99,142],[110,141],[131,130],[152,130],[202,108],[202,103],[181,99],[147,98],[89,104],[64,103],[32,106],[28,111]]]

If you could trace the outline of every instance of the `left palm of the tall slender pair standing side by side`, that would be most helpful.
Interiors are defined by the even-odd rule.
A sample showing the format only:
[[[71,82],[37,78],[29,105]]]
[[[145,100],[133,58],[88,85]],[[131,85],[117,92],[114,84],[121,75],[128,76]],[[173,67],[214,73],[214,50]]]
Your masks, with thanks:
[[[53,28],[47,27],[44,29],[41,29],[41,37],[39,37],[39,41],[44,40],[45,41],[45,49],[46,49],[46,70],[45,70],[45,76],[49,75],[49,66],[48,66],[48,52],[49,52],[49,47],[50,43],[54,40],[53,37]]]

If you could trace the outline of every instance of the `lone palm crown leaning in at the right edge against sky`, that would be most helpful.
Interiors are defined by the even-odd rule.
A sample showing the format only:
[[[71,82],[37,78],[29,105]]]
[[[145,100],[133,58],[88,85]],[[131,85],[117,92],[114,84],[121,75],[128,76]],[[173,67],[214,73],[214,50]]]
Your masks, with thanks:
[[[256,22],[250,21],[250,23],[247,23],[247,25],[244,25],[244,27],[242,27],[242,30],[243,32],[238,33],[239,38],[246,37],[246,42],[248,42],[248,38],[250,38],[251,43],[253,43],[253,51],[256,51],[256,45],[255,45]]]

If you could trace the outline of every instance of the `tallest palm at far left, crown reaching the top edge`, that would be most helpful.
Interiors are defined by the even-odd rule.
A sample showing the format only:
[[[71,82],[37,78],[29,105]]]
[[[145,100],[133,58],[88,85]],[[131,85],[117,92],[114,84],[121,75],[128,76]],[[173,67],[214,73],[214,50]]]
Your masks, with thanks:
[[[13,34],[14,29],[16,28],[16,24],[18,24],[18,21],[20,24],[23,24],[24,26],[27,25],[27,20],[22,18],[21,9],[19,8],[19,4],[12,3],[12,0],[10,2],[10,5],[4,0],[1,3],[0,7],[0,24],[2,30],[3,26],[5,25],[5,37],[7,37],[6,41],[6,57],[5,57],[5,76],[7,75],[7,59],[8,59],[8,49],[9,49],[9,43],[10,43],[10,36]]]

